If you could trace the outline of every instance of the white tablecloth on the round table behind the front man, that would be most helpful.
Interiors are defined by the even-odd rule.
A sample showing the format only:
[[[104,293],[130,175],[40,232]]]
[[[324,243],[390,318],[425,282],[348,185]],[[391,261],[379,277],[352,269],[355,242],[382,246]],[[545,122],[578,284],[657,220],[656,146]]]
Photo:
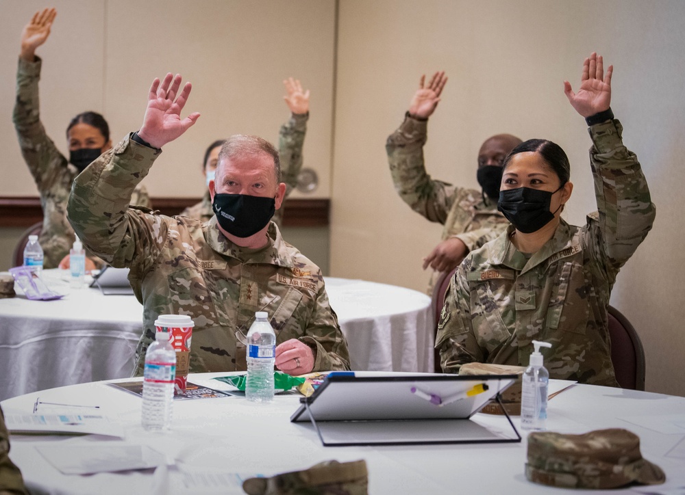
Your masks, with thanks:
[[[128,377],[142,333],[132,295],[71,289],[66,273],[44,271],[56,301],[0,299],[0,400],[102,379]],[[432,371],[430,298],[363,280],[326,278],[354,370]]]

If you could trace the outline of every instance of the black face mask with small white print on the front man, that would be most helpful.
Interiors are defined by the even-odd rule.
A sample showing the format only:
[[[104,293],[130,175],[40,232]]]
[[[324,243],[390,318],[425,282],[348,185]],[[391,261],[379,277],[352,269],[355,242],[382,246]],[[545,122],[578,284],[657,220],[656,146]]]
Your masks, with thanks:
[[[223,230],[236,237],[250,237],[269,224],[276,201],[262,196],[216,193],[212,209]]]

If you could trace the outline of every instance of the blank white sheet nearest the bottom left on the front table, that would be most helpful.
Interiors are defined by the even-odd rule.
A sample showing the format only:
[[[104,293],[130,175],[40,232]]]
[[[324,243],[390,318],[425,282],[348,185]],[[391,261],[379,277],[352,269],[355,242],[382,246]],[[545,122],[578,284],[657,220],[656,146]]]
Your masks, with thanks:
[[[155,468],[164,455],[145,445],[45,445],[36,450],[64,474],[95,474]]]

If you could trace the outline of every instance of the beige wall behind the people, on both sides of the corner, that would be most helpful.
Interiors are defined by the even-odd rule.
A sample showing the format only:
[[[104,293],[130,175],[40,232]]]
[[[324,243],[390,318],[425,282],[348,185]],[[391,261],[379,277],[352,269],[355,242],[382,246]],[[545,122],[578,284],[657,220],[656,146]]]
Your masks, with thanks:
[[[60,147],[66,121],[86,108],[105,113],[115,139],[137,129],[151,79],[181,72],[195,88],[187,109],[203,116],[165,149],[145,183],[154,196],[199,196],[205,146],[238,131],[276,139],[288,115],[281,80],[300,77],[312,89],[305,163],[322,178],[314,196],[332,199],[332,275],[417,290],[428,278],[421,258],[438,241],[440,226],[399,200],[384,142],[401,122],[419,75],[446,70],[450,77],[429,124],[431,174],[476,187],[475,156],[488,135],[552,139],[571,159],[575,190],[566,218],[578,224],[595,208],[590,140],[562,81],[576,88],[582,58],[599,51],[616,67],[612,107],[658,210],[653,231],[619,275],[612,304],[643,339],[648,390],[685,395],[675,378],[685,356],[683,297],[672,282],[685,278],[676,199],[685,179],[679,163],[685,153],[682,1],[340,0],[337,51],[334,1],[55,5],[53,35],[39,53],[45,58],[43,120]],[[0,0],[6,47],[0,53],[0,196],[35,193],[10,114],[18,36],[43,6]],[[327,230],[313,236],[312,252],[327,250]]]

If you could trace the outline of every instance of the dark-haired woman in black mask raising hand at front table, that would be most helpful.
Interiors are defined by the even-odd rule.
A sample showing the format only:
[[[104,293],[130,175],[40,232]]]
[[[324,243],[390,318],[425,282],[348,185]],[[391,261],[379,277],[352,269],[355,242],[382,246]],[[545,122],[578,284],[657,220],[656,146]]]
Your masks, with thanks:
[[[466,257],[451,280],[436,347],[445,371],[466,362],[527,366],[532,340],[545,340],[552,378],[618,386],[607,308],[619,269],[656,214],[637,157],[623,146],[610,109],[611,76],[596,53],[580,90],[564,92],[590,127],[598,212],[586,225],[560,217],[573,185],[566,153],[545,139],[516,146],[503,165],[499,210],[512,223]]]

